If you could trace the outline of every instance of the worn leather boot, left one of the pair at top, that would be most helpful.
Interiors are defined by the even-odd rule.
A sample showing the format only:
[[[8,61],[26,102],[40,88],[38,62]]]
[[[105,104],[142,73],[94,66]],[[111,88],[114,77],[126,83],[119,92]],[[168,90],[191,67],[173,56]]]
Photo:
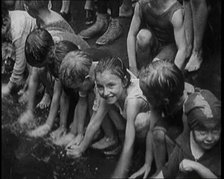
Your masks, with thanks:
[[[81,31],[79,36],[83,39],[90,39],[98,34],[103,34],[108,28],[108,19],[104,14],[97,14],[96,22],[89,28]]]

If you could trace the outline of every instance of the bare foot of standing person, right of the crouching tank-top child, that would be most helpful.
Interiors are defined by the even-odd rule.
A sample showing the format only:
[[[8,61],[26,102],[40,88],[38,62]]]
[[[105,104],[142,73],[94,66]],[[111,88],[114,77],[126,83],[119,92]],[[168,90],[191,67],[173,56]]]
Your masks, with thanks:
[[[198,53],[193,52],[185,67],[185,70],[187,70],[188,72],[198,70],[201,67],[201,63],[203,61],[201,54],[202,54],[201,52]]]

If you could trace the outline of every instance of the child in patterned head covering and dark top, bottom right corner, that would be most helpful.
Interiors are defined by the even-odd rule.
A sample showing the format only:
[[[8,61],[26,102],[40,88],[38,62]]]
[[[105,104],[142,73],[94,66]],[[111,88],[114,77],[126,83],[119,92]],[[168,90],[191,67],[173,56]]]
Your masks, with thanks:
[[[221,103],[208,90],[184,104],[189,128],[178,138],[168,163],[153,178],[221,178]]]

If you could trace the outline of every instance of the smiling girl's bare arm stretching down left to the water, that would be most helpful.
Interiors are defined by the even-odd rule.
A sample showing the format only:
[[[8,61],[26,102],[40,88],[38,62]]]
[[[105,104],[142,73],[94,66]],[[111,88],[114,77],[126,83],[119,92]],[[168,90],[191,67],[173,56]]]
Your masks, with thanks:
[[[107,112],[108,112],[108,105],[101,98],[99,108],[97,109],[96,112],[93,113],[90,122],[87,126],[84,139],[82,140],[79,146],[73,146],[71,147],[71,149],[67,149],[68,155],[71,155],[73,158],[77,158],[80,157],[82,153],[86,151],[86,149],[91,144],[95,133],[100,128],[100,125],[102,124],[102,121],[106,116]]]

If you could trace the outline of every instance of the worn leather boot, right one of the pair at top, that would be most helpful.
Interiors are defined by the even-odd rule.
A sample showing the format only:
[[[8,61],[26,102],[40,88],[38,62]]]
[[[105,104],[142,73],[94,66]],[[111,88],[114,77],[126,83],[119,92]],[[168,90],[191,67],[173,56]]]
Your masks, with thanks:
[[[96,41],[97,45],[106,45],[113,42],[121,36],[123,29],[120,25],[119,19],[111,19],[107,31]]]

